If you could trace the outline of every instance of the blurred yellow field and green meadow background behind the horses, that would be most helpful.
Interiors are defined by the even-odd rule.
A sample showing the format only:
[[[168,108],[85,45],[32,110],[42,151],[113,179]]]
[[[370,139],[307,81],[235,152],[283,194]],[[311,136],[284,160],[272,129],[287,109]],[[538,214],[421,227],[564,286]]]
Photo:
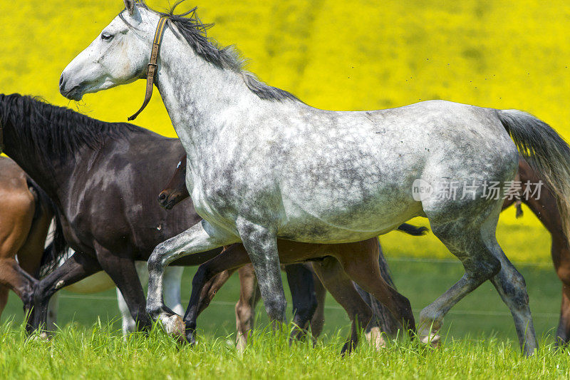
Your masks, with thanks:
[[[445,99],[492,108],[519,108],[570,138],[570,4],[518,0],[228,0],[186,1],[202,21],[216,24],[209,36],[235,44],[249,70],[318,108],[368,110]],[[147,4],[157,10],[167,1]],[[1,1],[3,26],[0,92],[42,96],[93,118],[124,121],[144,96],[144,82],[86,95],[81,102],[59,94],[61,71],[123,9],[120,0]],[[158,93],[136,120],[175,136]],[[425,220],[413,222],[425,225]],[[553,334],[561,284],[552,269],[550,237],[532,212],[503,213],[498,232],[507,256],[525,275],[538,334]],[[381,237],[395,283],[415,310],[455,282],[462,267],[432,235]],[[190,292],[192,269],[185,276]],[[202,318],[212,334],[233,332],[234,281]],[[92,324],[118,314],[113,292],[61,300],[62,324]],[[348,320],[328,300],[327,331]],[[2,319],[21,318],[11,294]],[[261,309],[259,309],[261,311]],[[264,318],[264,313],[259,312]],[[512,318],[490,284],[452,310],[450,337],[484,334],[515,339]]]

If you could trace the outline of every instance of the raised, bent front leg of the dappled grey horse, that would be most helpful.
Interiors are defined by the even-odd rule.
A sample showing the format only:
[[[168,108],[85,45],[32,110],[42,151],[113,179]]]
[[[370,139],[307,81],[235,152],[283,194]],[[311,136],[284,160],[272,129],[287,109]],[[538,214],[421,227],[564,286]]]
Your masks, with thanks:
[[[165,267],[180,257],[214,250],[239,241],[235,236],[214,231],[208,222],[202,220],[189,230],[157,245],[148,259],[147,313],[152,319],[162,322],[167,334],[184,337],[185,324],[179,315],[165,306],[162,298]]]

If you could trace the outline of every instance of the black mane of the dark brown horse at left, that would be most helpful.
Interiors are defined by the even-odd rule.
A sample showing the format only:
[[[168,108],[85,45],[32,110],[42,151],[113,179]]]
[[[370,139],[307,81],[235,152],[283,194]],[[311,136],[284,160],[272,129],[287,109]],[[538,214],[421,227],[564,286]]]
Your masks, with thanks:
[[[0,94],[0,124],[11,125],[10,133],[26,152],[43,163],[66,160],[80,148],[97,150],[108,138],[125,138],[142,128],[128,123],[106,123],[69,108],[53,106],[43,99],[19,94]]]

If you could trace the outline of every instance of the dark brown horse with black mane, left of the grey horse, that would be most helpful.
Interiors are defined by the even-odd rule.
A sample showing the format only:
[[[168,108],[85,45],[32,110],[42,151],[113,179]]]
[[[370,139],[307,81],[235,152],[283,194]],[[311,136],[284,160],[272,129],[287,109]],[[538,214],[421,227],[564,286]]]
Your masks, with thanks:
[[[190,199],[172,211],[156,202],[160,183],[167,182],[169,168],[184,154],[179,140],[18,94],[0,95],[0,118],[6,155],[46,192],[61,235],[75,251],[35,285],[26,304],[33,306],[28,330],[45,324],[54,293],[102,270],[123,294],[138,327],[150,327],[135,261],[147,260],[159,242],[200,222]],[[409,225],[400,228],[417,231]],[[199,265],[220,251],[174,265]],[[409,309],[405,297],[395,302],[400,299],[398,307]],[[365,307],[358,312],[363,322],[371,313]]]

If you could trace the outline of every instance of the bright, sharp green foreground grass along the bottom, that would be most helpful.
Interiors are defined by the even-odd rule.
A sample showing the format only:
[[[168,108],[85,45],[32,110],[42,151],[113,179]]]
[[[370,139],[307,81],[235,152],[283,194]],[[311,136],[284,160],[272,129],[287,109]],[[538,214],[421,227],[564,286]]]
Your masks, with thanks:
[[[123,339],[107,324],[68,326],[51,342],[24,339],[10,324],[0,328],[0,371],[4,378],[76,379],[346,379],[517,378],[554,379],[570,371],[568,351],[542,346],[524,358],[502,339],[447,339],[440,349],[417,342],[390,342],[374,351],[361,344],[342,359],[343,339],[335,334],[316,346],[289,346],[286,334],[258,332],[244,354],[231,339],[202,337],[195,347],[179,346],[155,329],[149,337]]]

